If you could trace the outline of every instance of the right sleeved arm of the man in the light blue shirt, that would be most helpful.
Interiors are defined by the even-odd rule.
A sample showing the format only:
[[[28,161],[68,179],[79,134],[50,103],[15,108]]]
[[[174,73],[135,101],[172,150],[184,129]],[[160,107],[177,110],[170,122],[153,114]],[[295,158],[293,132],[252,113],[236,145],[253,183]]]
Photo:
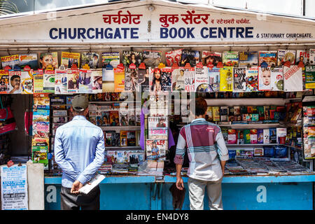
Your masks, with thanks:
[[[99,141],[97,142],[94,160],[81,172],[76,181],[85,184],[90,181],[94,174],[97,172],[99,167],[102,166],[105,159],[105,144],[104,144],[104,133],[102,130],[99,132]]]

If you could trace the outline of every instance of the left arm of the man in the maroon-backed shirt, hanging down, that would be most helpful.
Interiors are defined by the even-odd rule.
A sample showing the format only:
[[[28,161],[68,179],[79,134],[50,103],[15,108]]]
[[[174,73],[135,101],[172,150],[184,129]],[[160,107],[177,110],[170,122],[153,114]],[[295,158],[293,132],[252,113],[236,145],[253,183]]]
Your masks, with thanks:
[[[181,178],[181,167],[183,167],[183,158],[186,151],[186,140],[179,134],[177,141],[174,163],[176,164],[176,187],[183,190],[183,179]]]

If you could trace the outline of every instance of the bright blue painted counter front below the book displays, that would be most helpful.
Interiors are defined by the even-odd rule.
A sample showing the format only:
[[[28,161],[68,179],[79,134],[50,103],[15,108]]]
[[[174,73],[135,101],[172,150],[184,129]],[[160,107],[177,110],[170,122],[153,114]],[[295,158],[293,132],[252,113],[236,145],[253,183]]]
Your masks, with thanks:
[[[187,177],[183,177],[189,209]],[[107,176],[100,184],[101,209],[173,209],[169,188],[176,177]],[[315,175],[225,176],[222,182],[223,207],[235,209],[314,209]],[[61,177],[45,177],[45,209],[60,209]],[[204,209],[207,207],[204,199]]]

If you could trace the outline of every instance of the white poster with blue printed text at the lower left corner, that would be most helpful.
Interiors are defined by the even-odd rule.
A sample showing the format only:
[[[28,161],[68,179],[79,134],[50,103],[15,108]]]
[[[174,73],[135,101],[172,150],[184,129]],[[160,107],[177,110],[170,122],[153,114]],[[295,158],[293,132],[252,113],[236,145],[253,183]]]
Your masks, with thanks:
[[[1,166],[1,210],[28,210],[27,165]]]

